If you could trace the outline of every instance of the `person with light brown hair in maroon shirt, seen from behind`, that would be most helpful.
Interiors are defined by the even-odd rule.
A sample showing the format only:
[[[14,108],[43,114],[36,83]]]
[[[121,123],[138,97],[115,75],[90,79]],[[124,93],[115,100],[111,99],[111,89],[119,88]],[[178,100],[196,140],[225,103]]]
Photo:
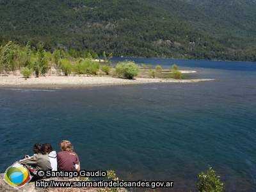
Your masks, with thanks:
[[[63,140],[60,143],[61,152],[58,152],[58,170],[77,171],[80,170],[79,157],[73,151],[73,146],[70,141]]]

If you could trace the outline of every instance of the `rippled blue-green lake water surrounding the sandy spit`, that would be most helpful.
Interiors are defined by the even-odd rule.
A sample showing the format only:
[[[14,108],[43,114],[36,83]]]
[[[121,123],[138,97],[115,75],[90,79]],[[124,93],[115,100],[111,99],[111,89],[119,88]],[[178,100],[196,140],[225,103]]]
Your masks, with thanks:
[[[186,78],[216,81],[0,88],[1,172],[32,155],[36,142],[59,152],[60,141],[70,140],[82,169],[175,182],[157,191],[196,191],[208,164],[227,191],[256,191],[256,63],[126,59],[163,68],[175,63],[198,70]]]

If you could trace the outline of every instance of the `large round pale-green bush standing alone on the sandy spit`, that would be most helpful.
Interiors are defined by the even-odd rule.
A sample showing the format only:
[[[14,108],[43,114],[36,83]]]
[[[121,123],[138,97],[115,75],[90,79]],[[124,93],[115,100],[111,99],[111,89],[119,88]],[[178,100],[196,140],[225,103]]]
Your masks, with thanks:
[[[134,61],[122,61],[115,67],[115,75],[118,77],[125,77],[132,79],[139,74],[139,65],[136,65]]]

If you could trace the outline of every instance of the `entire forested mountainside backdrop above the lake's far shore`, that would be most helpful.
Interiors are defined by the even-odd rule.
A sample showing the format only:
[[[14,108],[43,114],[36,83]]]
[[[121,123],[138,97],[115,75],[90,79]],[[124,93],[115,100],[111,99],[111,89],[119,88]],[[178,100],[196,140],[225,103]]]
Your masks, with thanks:
[[[256,61],[255,11],[255,0],[0,0],[0,40],[99,56]]]

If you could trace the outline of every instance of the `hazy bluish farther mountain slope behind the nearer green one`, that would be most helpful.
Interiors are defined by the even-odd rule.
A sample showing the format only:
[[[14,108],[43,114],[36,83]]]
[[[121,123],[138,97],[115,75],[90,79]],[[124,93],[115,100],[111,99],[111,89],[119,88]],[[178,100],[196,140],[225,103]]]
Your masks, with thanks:
[[[255,38],[255,0],[145,0],[210,35]]]

